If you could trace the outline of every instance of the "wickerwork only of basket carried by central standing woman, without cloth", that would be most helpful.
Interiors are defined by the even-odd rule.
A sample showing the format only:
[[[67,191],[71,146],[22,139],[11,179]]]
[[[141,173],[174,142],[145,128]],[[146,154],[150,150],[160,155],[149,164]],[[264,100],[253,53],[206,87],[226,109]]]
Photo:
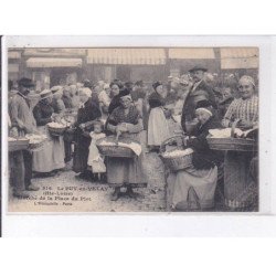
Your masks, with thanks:
[[[115,137],[107,137],[107,138],[102,138],[98,139],[96,145],[98,148],[98,151],[103,155],[103,156],[107,156],[107,157],[121,157],[121,158],[135,158],[136,155],[135,152],[129,149],[129,148],[125,148],[125,147],[120,147],[120,146],[103,146],[100,145],[102,141],[109,141],[109,142],[115,142],[116,138]],[[137,142],[127,138],[120,138],[118,140],[119,142]],[[138,144],[138,142],[137,142]]]

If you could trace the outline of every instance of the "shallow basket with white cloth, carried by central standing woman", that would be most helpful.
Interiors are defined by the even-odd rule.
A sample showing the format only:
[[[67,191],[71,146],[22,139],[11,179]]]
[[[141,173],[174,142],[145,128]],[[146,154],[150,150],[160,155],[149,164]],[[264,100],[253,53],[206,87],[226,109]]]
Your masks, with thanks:
[[[128,138],[106,137],[98,139],[97,148],[103,156],[135,158],[141,152],[141,145]]]

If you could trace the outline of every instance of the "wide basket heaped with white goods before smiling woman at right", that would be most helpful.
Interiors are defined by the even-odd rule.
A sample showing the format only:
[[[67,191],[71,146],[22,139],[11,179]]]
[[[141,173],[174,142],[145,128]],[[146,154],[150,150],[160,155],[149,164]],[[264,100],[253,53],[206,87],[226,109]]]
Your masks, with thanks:
[[[232,128],[210,129],[210,135],[206,137],[210,149],[213,150],[232,150],[232,151],[255,151],[257,142],[254,139],[247,138],[252,131],[243,131],[235,128],[236,120]]]

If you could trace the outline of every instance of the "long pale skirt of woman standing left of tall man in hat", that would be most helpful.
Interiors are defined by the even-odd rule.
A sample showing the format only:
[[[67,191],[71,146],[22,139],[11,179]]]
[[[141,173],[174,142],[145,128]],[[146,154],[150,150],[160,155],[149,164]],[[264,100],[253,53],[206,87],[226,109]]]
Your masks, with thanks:
[[[152,108],[149,114],[148,145],[160,146],[168,138],[170,138],[170,130],[162,108]]]

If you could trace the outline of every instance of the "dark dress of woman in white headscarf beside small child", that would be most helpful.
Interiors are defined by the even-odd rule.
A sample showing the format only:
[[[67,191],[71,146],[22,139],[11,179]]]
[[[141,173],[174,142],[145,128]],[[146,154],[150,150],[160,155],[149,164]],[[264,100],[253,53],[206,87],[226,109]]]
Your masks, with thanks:
[[[83,130],[79,128],[81,124],[95,120],[100,117],[98,106],[89,98],[84,107],[77,112],[76,120],[76,147],[73,159],[73,170],[75,172],[85,172],[87,170],[88,148],[91,145],[91,137],[85,137]],[[86,129],[92,130],[92,129]]]

